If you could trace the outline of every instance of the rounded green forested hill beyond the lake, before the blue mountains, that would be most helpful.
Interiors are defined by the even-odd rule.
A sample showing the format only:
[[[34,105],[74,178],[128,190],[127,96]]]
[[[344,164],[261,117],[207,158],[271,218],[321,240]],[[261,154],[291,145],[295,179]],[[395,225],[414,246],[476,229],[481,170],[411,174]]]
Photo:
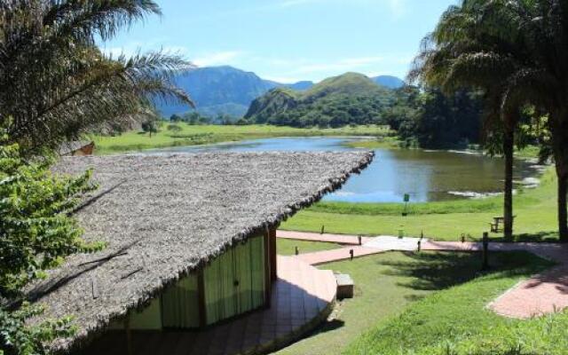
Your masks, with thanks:
[[[394,91],[367,76],[347,73],[307,91],[273,89],[252,102],[245,119],[294,127],[380,123],[383,110],[394,99]]]

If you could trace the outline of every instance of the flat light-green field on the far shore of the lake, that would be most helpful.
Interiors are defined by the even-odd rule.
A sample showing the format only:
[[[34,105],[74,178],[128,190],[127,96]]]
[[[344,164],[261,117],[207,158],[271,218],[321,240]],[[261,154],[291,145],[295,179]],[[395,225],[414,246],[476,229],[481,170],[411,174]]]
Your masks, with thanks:
[[[312,137],[312,136],[386,136],[390,130],[385,126],[345,126],[338,129],[299,129],[271,125],[188,125],[177,123],[180,131],[168,130],[168,122],[152,137],[147,133],[131,130],[120,136],[93,136],[96,154],[113,154],[169,146],[196,146],[209,143],[232,142],[244,139],[271,137]]]

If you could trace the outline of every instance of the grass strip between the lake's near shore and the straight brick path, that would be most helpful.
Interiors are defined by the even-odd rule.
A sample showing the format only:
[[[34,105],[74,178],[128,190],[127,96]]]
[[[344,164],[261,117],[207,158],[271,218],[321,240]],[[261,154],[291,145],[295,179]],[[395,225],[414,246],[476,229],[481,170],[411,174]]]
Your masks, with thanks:
[[[517,239],[557,238],[556,176],[552,169],[541,177],[539,187],[518,193],[514,203]],[[319,232],[321,225],[325,225],[329,233],[389,235],[398,235],[402,229],[406,235],[418,236],[423,232],[437,240],[457,241],[461,233],[480,238],[489,230],[493,217],[502,216],[501,206],[501,197],[415,203],[411,205],[411,213],[402,217],[401,204],[319,202],[300,211],[280,228]]]

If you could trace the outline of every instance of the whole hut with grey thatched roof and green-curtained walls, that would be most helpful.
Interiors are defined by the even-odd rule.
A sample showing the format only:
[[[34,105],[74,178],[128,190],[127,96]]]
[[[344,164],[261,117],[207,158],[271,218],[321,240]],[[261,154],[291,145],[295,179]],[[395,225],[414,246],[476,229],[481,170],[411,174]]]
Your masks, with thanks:
[[[137,353],[143,332],[201,332],[279,309],[272,291],[287,284],[278,282],[276,228],[372,159],[363,152],[62,157],[55,173],[93,170],[99,193],[75,216],[83,239],[106,248],[67,258],[30,289],[46,307],[39,320],[74,317],[76,334],[46,345],[81,351],[118,333],[126,353]],[[289,290],[312,295],[296,284]]]

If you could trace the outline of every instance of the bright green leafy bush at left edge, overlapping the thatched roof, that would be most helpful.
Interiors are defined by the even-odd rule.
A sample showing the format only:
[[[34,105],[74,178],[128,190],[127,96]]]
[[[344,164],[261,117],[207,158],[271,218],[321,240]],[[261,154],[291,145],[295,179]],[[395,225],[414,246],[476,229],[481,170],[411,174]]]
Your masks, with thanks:
[[[85,244],[82,229],[67,217],[78,197],[95,188],[91,172],[53,176],[50,161],[26,162],[17,145],[0,146],[0,296],[18,295],[63,257],[99,248]]]

